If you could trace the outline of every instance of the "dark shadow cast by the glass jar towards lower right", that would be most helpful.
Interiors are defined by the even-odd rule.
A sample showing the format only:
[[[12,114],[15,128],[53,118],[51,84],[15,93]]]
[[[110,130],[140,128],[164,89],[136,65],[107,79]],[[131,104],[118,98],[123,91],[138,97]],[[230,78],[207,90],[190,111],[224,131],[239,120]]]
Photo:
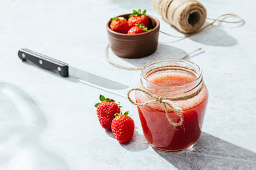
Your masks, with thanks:
[[[198,143],[185,152],[155,150],[177,169],[253,169],[256,153],[202,132]]]

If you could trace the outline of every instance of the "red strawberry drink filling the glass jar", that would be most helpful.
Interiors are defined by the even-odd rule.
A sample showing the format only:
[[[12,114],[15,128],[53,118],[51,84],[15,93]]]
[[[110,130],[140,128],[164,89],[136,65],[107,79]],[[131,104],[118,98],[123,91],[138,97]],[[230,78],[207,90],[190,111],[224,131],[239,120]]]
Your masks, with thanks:
[[[195,77],[191,75],[167,74],[157,76],[149,81],[157,85],[173,87],[185,85],[194,80]],[[137,95],[136,101],[138,103],[145,102],[143,101],[145,99],[142,98],[142,96]],[[189,102],[182,101],[178,104],[184,111],[184,122],[180,126],[174,126],[168,122],[163,107],[159,107],[159,104],[138,107],[143,133],[151,146],[158,150],[180,151],[186,150],[196,143],[201,134],[207,105],[208,93],[206,87],[194,98],[189,99]],[[174,111],[170,110],[168,114],[174,122],[180,121],[179,116]]]

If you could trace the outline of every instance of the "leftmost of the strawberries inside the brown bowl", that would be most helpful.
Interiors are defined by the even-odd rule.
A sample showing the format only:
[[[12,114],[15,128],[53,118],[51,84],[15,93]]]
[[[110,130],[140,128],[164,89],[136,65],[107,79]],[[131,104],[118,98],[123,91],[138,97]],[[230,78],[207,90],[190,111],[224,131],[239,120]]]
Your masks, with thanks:
[[[110,28],[113,31],[127,34],[130,27],[127,20],[124,17],[115,17],[115,18],[111,18],[110,20],[111,20]]]

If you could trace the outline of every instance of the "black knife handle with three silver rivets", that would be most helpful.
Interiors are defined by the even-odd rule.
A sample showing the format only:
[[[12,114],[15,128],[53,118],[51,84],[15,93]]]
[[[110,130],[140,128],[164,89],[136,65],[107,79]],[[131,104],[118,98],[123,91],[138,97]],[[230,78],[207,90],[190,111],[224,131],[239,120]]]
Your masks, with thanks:
[[[44,69],[58,71],[63,77],[68,76],[68,64],[65,62],[52,59],[51,57],[47,57],[41,53],[33,52],[27,48],[20,49],[18,56],[20,60],[28,60]]]

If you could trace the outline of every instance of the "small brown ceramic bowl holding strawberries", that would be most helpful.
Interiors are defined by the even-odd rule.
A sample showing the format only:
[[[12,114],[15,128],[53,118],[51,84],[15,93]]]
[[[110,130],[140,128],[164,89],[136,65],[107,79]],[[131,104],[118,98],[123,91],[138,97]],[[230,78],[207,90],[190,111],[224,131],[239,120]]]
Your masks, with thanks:
[[[119,15],[118,17],[124,17],[128,20],[129,14]],[[158,35],[160,24],[157,18],[148,15],[151,31],[143,32],[141,34],[122,34],[112,31],[109,27],[110,21],[107,24],[109,45],[118,57],[124,58],[141,58],[146,57],[156,52],[158,44]]]

